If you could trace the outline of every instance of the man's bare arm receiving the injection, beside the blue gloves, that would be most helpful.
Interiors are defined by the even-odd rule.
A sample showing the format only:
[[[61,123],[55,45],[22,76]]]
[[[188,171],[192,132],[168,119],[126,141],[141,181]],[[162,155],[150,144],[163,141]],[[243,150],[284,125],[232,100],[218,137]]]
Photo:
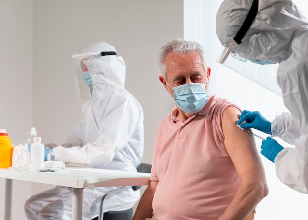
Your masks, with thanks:
[[[268,194],[265,172],[254,137],[236,126],[240,111],[225,109],[222,129],[225,147],[240,177],[241,185],[218,220],[246,220],[256,205]]]

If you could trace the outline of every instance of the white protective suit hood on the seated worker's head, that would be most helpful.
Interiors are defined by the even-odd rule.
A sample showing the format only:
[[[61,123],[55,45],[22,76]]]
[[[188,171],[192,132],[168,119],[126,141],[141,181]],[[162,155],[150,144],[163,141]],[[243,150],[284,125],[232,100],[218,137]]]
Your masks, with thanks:
[[[100,53],[114,51],[116,48],[106,42],[92,44],[83,50],[83,53]],[[126,66],[123,58],[117,55],[96,55],[84,61],[87,66],[93,90],[109,90],[113,87],[124,88]]]

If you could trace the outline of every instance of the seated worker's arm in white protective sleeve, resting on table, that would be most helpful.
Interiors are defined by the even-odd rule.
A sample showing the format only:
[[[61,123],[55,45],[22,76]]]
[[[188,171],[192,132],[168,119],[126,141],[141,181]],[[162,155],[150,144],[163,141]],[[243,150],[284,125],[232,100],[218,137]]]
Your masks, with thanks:
[[[125,99],[119,103],[117,106],[113,104],[111,108],[105,108],[101,118],[95,118],[96,123],[84,131],[88,135],[98,133],[96,141],[86,143],[82,147],[58,146],[54,148],[56,159],[85,164],[111,162],[115,153],[126,146],[140,121],[143,121],[142,110],[130,100]],[[100,124],[97,124],[98,122]]]

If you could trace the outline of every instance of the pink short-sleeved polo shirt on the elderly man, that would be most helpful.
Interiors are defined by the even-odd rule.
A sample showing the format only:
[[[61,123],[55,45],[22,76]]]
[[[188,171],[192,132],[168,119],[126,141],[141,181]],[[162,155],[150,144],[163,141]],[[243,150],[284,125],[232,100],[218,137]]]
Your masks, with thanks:
[[[224,146],[221,127],[226,107],[210,96],[204,108],[183,123],[172,113],[160,123],[154,145],[151,180],[157,220],[216,220],[240,185]]]

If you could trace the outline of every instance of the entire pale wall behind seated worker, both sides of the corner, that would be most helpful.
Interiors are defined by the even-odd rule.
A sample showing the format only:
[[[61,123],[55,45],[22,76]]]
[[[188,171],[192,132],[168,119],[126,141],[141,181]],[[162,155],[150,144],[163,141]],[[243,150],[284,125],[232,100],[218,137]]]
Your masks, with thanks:
[[[162,45],[183,38],[183,1],[0,0],[0,24],[0,92],[6,94],[1,97],[6,107],[0,108],[0,127],[8,130],[13,143],[22,142],[31,126],[43,143],[66,141],[82,117],[83,104],[76,93],[71,55],[106,41],[123,57],[125,87],[143,107],[142,161],[152,163],[156,128],[173,106],[158,80],[156,55]],[[3,198],[5,182],[0,181]],[[14,181],[13,191],[23,189],[26,194],[14,193],[18,212],[12,219],[25,220],[23,204],[29,194],[50,187]],[[0,200],[1,208],[3,203]]]

